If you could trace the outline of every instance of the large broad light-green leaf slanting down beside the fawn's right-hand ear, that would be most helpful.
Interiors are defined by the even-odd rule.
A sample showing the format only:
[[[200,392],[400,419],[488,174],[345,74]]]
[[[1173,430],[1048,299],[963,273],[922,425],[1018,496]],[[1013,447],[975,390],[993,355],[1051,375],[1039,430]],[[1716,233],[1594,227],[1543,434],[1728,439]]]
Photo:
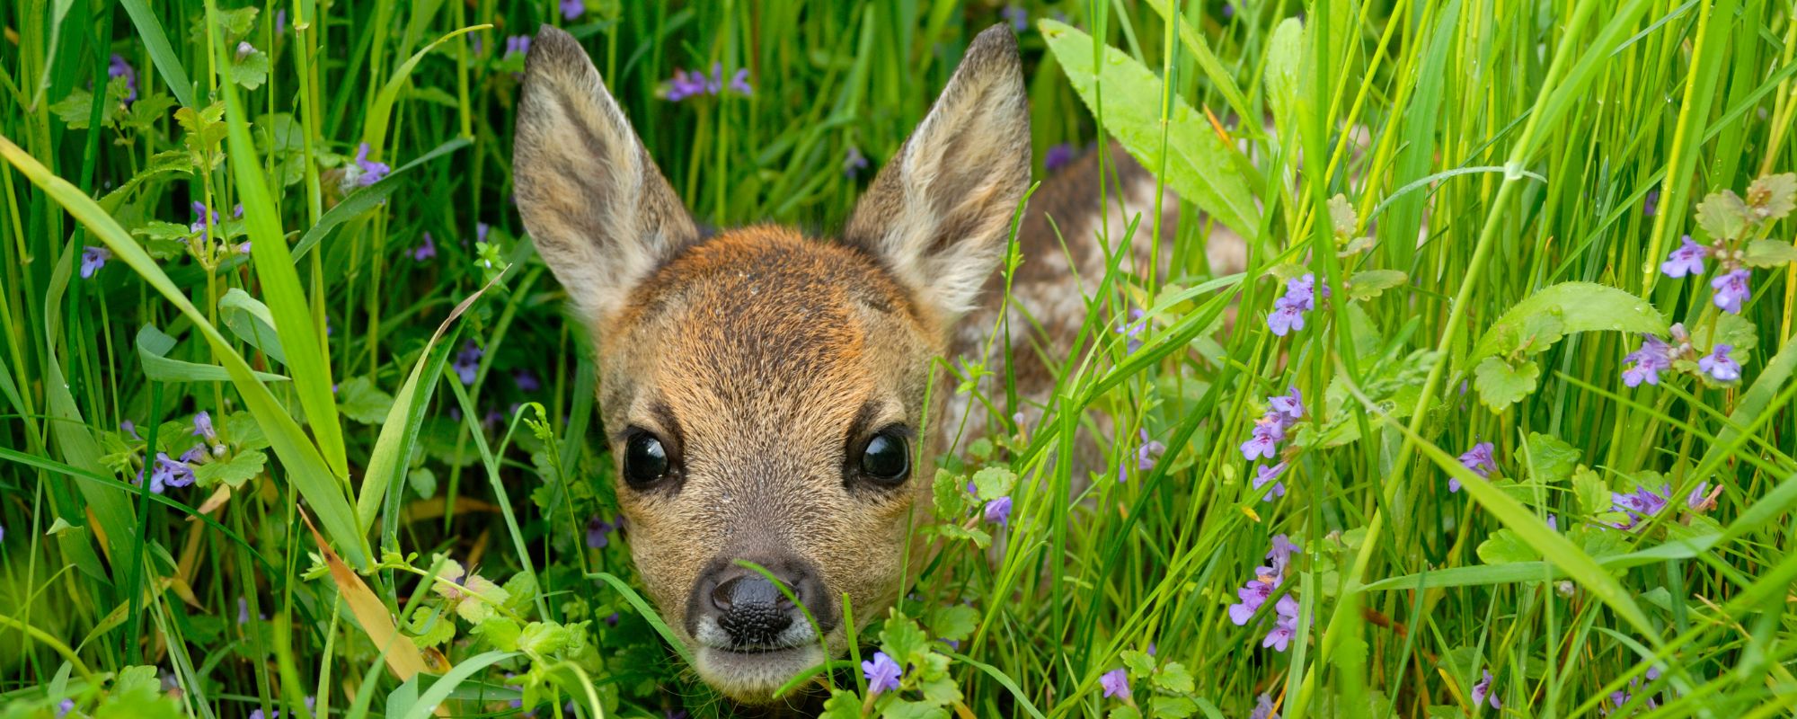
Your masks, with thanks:
[[[1161,176],[1179,198],[1199,205],[1217,221],[1244,237],[1260,226],[1260,210],[1247,178],[1236,165],[1238,151],[1224,144],[1209,122],[1177,93],[1172,117],[1161,120],[1161,79],[1127,52],[1093,52],[1093,38],[1066,23],[1040,22],[1042,38],[1066,72],[1073,90],[1098,113],[1098,86],[1103,90],[1103,128],[1123,144],[1150,173]],[[1093,61],[1102,63],[1102,70]]]

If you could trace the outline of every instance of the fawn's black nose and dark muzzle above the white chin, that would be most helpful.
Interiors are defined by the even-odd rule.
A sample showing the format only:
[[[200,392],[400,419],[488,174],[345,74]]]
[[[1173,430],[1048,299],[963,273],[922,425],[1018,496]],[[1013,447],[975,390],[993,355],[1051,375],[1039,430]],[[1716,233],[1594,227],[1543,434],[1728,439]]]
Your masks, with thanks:
[[[773,581],[735,561],[715,563],[699,577],[686,602],[697,609],[690,617],[699,644],[728,651],[776,651],[816,642],[805,611],[818,620],[819,631],[836,627],[823,582],[809,563],[749,561],[766,568]]]

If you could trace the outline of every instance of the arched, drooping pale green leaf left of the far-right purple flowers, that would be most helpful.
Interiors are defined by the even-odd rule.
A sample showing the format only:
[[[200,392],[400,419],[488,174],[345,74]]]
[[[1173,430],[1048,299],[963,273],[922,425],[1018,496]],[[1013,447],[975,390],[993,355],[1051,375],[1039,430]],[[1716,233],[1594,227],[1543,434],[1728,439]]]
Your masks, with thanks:
[[[1558,327],[1544,324],[1540,315],[1553,315]],[[1553,333],[1549,333],[1553,329]],[[1517,302],[1504,313],[1479,343],[1474,345],[1468,363],[1493,354],[1511,354],[1522,349],[1531,352],[1545,351],[1547,334],[1571,334],[1590,331],[1619,331],[1664,336],[1669,329],[1666,318],[1651,304],[1626,291],[1596,282],[1562,282],[1544,288],[1526,300]],[[1554,336],[1553,340],[1558,340]]]

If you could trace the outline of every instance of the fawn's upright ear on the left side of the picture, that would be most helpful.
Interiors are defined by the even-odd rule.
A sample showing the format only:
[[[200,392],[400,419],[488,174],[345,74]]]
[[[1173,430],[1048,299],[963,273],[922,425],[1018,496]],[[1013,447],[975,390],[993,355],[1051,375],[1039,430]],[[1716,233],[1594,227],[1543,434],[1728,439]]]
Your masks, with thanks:
[[[512,182],[537,253],[588,322],[615,311],[636,282],[697,239],[598,68],[555,27],[530,43]]]

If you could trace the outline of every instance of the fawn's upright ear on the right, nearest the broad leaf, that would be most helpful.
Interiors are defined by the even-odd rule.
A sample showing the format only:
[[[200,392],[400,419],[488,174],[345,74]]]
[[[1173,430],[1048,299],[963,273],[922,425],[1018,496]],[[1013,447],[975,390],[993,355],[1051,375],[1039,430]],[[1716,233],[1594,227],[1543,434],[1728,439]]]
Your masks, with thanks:
[[[1017,38],[974,38],[936,106],[855,205],[845,241],[881,257],[943,325],[997,268],[1030,183],[1030,111]]]

